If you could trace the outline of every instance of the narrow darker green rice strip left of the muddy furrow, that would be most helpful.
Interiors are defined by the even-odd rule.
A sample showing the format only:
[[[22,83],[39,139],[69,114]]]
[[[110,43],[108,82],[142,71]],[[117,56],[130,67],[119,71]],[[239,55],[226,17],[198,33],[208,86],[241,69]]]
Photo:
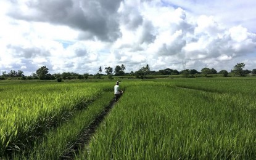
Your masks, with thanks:
[[[68,152],[79,146],[79,141],[88,132],[89,125],[104,112],[106,106],[113,99],[112,92],[104,92],[101,97],[88,105],[85,110],[77,111],[70,121],[65,122],[56,129],[47,132],[43,140],[35,142],[29,153],[23,153],[24,159],[60,159]],[[87,135],[86,135],[87,134]],[[83,142],[83,141],[82,141]],[[20,159],[21,155],[14,155],[12,159]],[[65,157],[64,157],[65,158]]]

